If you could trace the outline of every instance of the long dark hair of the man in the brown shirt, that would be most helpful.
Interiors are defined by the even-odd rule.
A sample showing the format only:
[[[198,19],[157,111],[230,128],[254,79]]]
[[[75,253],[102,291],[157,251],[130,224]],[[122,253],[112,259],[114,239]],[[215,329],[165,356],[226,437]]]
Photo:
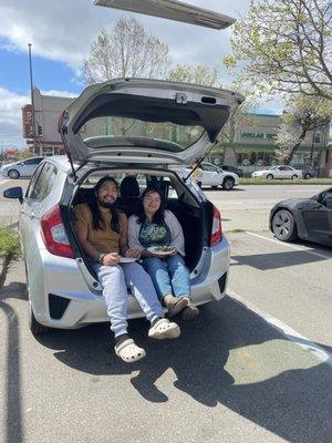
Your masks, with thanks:
[[[89,204],[90,210],[92,213],[92,223],[93,223],[93,227],[94,227],[95,230],[97,230],[97,229],[105,230],[106,229],[106,226],[104,224],[104,220],[102,218],[102,214],[101,214],[101,210],[100,210],[100,207],[98,207],[97,198],[96,198],[96,196],[97,196],[97,194],[100,192],[100,188],[103,186],[103,184],[105,182],[113,182],[114,185],[116,186],[116,189],[118,190],[118,185],[117,185],[117,182],[115,181],[115,178],[108,177],[107,175],[105,177],[102,177],[96,183],[96,185],[94,186],[94,188],[93,188],[93,194],[94,195],[93,195],[93,197],[91,198],[91,200],[87,204]],[[120,222],[118,222],[120,212],[118,212],[117,206],[116,206],[116,200],[110,207],[110,212],[111,212],[111,215],[112,215],[111,228],[115,233],[120,233]]]

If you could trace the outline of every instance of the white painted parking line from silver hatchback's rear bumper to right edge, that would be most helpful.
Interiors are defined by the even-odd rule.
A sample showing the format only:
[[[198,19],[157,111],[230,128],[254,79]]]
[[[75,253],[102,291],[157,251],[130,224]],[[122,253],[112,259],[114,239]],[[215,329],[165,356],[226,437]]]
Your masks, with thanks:
[[[272,317],[270,313],[260,310],[259,308],[257,308],[257,306],[252,305],[250,301],[247,301],[232,290],[228,290],[227,295],[231,297],[236,302],[245,306],[251,312],[262,318],[267,323],[272,326],[274,329],[278,329],[278,331],[281,332],[288,340],[298,344],[305,351],[314,353],[314,356],[318,357],[318,359],[332,367],[332,354],[325,351],[323,348],[313,343],[305,337],[301,336],[294,329],[283,323],[281,320],[278,320],[277,318]]]

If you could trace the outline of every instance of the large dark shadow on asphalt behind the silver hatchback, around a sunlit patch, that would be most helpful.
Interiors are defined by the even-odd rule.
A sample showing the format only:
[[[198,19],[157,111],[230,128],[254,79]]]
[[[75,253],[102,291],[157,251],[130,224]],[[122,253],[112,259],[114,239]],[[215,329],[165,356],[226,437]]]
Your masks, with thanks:
[[[131,322],[132,336],[147,351],[147,358],[133,365],[111,353],[107,324],[55,331],[39,341],[53,349],[63,364],[85,373],[131,375],[139,371],[131,383],[148,402],[168,401],[155,382],[172,369],[177,377],[175,388],[195,402],[209,408],[221,403],[289,442],[331,442],[332,372],[328,363],[284,340],[229,297],[204,307],[195,322],[181,323],[181,332],[178,340],[153,342],[146,337],[145,321]]]

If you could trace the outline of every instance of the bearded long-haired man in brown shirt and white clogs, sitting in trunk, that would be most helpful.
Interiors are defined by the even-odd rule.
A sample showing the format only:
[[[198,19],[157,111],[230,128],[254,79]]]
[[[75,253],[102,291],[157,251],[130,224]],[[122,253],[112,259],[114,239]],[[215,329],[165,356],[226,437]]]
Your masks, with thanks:
[[[94,187],[95,198],[74,208],[75,227],[103,287],[111,330],[115,336],[115,353],[125,362],[134,362],[144,358],[145,351],[127,333],[127,287],[151,321],[148,337],[174,339],[180,334],[180,329],[164,318],[149,276],[134,261],[139,259],[141,253],[127,246],[127,218],[116,208],[117,192],[113,177],[101,178]],[[121,256],[133,258],[133,261],[121,262]]]

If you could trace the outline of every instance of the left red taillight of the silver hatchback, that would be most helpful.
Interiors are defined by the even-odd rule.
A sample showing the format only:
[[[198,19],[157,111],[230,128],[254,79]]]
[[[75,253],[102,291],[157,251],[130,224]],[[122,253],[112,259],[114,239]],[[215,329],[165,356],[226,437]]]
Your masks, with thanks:
[[[58,205],[43,215],[41,218],[41,229],[49,253],[60,257],[74,258]]]

